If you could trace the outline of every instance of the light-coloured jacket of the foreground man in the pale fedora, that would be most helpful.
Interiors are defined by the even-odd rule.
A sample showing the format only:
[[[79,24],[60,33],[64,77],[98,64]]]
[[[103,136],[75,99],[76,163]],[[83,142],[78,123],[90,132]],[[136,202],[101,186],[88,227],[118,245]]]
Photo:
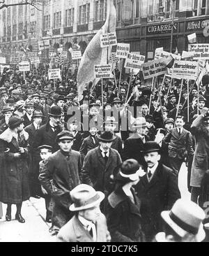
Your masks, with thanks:
[[[97,241],[107,243],[110,240],[109,232],[107,230],[106,218],[103,214],[100,215],[96,224]],[[56,242],[67,242],[67,243],[91,243],[93,239],[88,231],[84,228],[82,223],[75,215],[67,224],[65,224],[56,236]]]

